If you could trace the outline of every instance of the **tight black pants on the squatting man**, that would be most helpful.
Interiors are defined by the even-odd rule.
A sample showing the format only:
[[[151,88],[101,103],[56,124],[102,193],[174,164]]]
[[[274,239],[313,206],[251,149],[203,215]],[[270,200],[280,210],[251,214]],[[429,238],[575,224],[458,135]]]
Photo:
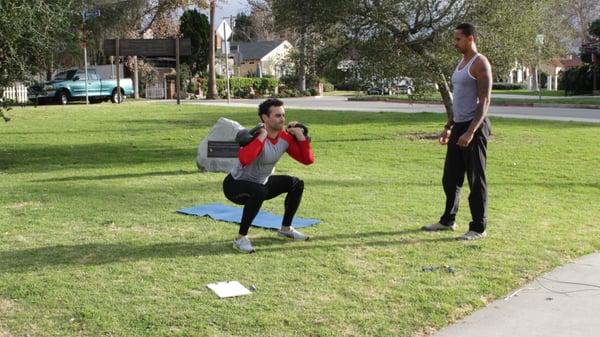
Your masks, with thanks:
[[[244,205],[240,235],[247,235],[252,221],[258,214],[263,201],[287,193],[284,203],[282,226],[291,226],[292,219],[300,206],[304,182],[296,177],[272,175],[265,185],[246,180],[235,180],[228,174],[223,181],[223,193],[231,202]]]

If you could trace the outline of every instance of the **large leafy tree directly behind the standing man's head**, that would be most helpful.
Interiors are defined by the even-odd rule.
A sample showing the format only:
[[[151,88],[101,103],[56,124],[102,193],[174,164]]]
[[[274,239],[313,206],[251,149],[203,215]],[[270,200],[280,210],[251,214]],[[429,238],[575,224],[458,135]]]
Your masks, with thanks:
[[[373,76],[404,75],[438,85],[446,109],[452,107],[448,78],[458,62],[454,27],[471,22],[478,27],[479,51],[488,56],[493,70],[504,73],[517,60],[538,58],[533,43],[544,33],[546,18],[557,0],[357,0],[348,22],[361,51],[363,69]],[[560,31],[553,26],[552,29]],[[550,35],[550,33],[548,33]],[[553,41],[560,49],[560,39]],[[563,46],[564,47],[564,46]],[[545,52],[550,54],[550,46]],[[554,54],[556,55],[556,54]]]

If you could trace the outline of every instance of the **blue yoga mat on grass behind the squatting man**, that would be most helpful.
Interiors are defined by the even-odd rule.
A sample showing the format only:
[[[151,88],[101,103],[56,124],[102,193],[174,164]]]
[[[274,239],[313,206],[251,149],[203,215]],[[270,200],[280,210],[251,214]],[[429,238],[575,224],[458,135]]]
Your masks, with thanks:
[[[177,213],[187,215],[206,216],[215,219],[228,222],[240,223],[242,219],[242,208],[235,206],[228,206],[223,204],[206,204],[194,207],[182,208]],[[271,214],[269,212],[258,212],[256,218],[252,222],[252,226],[270,229],[281,228],[281,221],[283,217],[280,215]],[[292,220],[292,226],[295,228],[308,227],[321,222],[318,219],[307,219],[299,218],[297,216]]]

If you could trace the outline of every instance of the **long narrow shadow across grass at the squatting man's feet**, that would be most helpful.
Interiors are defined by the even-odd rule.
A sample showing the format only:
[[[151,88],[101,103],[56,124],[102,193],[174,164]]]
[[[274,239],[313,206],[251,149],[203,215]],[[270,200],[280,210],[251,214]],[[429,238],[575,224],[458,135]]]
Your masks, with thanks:
[[[432,242],[451,242],[454,238],[401,238],[398,240],[367,240],[361,242],[328,242],[354,238],[371,238],[373,236],[395,236],[419,232],[419,230],[403,230],[394,232],[365,232],[318,237],[302,244],[292,245],[292,241],[276,237],[255,238],[255,246],[261,251],[270,253],[289,250],[330,250],[332,248],[353,248],[361,246],[388,247],[395,245],[412,245]],[[231,241],[211,243],[165,242],[150,245],[132,243],[90,243],[80,245],[57,245],[23,250],[0,252],[0,273],[25,273],[31,270],[70,265],[103,265],[110,263],[131,262],[139,260],[177,258],[190,256],[224,256],[239,254],[231,248]]]

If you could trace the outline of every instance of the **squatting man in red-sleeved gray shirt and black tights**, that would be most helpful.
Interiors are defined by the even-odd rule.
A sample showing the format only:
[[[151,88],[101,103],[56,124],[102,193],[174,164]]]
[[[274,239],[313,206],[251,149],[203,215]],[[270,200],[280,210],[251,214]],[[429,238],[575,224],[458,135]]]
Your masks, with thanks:
[[[310,141],[303,129],[291,122],[285,130],[283,102],[267,99],[258,106],[262,128],[254,139],[242,146],[238,162],[223,181],[223,192],[227,199],[244,205],[240,230],[233,241],[233,248],[243,253],[253,253],[254,248],[247,238],[248,229],[258,214],[263,201],[287,193],[279,236],[292,240],[308,240],[308,236],[292,227],[292,219],[300,206],[304,182],[287,175],[272,175],[275,164],[287,152],[292,158],[305,165],[314,162]]]

